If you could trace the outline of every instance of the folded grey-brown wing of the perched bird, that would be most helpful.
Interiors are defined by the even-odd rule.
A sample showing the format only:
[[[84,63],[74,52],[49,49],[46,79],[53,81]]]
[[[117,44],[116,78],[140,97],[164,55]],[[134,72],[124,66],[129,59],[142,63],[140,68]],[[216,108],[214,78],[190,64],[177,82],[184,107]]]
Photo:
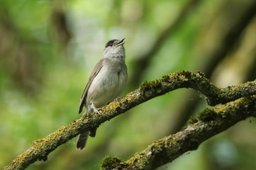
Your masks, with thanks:
[[[96,75],[99,73],[99,71],[101,71],[101,68],[103,66],[102,62],[103,62],[103,59],[99,60],[99,62],[94,67],[94,71],[91,72],[91,76],[89,77],[89,80],[87,82],[87,86],[85,86],[83,94],[81,96],[80,105],[79,105],[79,112],[78,113],[82,113],[83,107],[86,106],[87,93],[88,93],[89,87],[91,86],[91,82],[94,81],[94,78],[96,77]]]

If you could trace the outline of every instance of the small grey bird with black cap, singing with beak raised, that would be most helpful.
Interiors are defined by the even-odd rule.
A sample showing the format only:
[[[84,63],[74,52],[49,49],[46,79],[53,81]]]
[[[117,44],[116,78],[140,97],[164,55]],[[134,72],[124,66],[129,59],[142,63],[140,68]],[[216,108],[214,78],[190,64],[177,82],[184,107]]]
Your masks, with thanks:
[[[128,72],[125,38],[109,40],[101,60],[96,64],[80,98],[79,113],[86,108],[87,113],[98,113],[101,107],[118,98],[125,89]],[[90,131],[79,134],[77,149],[81,151],[87,145]]]

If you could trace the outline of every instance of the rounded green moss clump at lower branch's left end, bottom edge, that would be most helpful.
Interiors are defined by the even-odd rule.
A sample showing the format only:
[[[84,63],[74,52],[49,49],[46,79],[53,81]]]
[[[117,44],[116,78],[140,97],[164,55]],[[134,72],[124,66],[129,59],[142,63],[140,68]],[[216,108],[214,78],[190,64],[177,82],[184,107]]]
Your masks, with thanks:
[[[106,156],[101,162],[101,169],[118,169],[118,166],[125,164],[118,157]]]

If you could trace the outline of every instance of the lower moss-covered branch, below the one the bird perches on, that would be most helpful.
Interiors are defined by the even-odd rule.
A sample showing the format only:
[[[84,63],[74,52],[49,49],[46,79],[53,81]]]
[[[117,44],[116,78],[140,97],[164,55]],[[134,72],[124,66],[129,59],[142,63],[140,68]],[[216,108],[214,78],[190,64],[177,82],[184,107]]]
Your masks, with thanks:
[[[106,157],[101,163],[101,168],[155,169],[172,162],[187,151],[197,149],[208,138],[251,116],[256,117],[256,96],[240,98],[221,108],[206,108],[196,119],[190,121],[194,124],[190,124],[182,132],[152,143],[127,162],[121,162],[117,157]]]

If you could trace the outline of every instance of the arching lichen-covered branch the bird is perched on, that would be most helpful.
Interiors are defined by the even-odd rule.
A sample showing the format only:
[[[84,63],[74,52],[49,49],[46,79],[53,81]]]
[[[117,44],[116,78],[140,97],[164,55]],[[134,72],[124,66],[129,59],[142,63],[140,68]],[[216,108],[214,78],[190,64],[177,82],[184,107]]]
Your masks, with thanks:
[[[5,166],[4,169],[26,169],[33,162],[38,160],[45,161],[50,152],[73,137],[76,137],[80,132],[84,130],[95,130],[101,123],[111,120],[111,118],[121,113],[125,113],[140,103],[180,88],[191,88],[200,91],[201,94],[206,96],[208,104],[214,106],[218,103],[227,103],[241,97],[256,94],[256,81],[250,81],[238,86],[219,88],[206,79],[201,72],[194,74],[188,71],[182,71],[165,75],[159,80],[144,82],[140,85],[139,89],[127,94],[125,98],[104,106],[100,115],[95,113],[84,114],[82,118],[74,120],[73,123],[67,126],[63,126],[56,132],[48,135],[48,137],[34,141],[30,149],[20,154],[11,164]]]

